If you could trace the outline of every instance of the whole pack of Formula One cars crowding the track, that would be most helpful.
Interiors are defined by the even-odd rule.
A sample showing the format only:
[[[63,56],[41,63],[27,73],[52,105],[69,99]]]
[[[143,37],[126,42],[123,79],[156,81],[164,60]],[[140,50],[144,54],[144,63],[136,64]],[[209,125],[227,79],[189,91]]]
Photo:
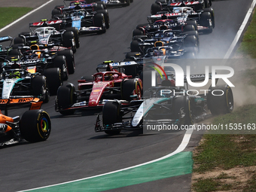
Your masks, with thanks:
[[[110,27],[107,8],[129,6],[133,0],[64,3],[53,8],[50,20],[29,23],[30,32],[20,32],[16,38],[0,37],[0,43],[11,42],[9,47],[0,46],[0,107],[5,109],[5,114],[0,114],[1,145],[23,139],[46,140],[51,124],[41,105],[54,95],[55,111],[62,115],[102,108],[95,131],[109,135],[142,130],[147,124],[191,125],[209,114],[233,111],[233,93],[227,85],[209,88],[222,91],[222,96],[210,91],[185,96],[182,93],[187,87],[175,87],[174,72],[163,72],[162,77],[154,70],[167,59],[197,59],[200,33],[215,28],[212,0],[156,0],[148,23],[133,30],[125,59],[102,62],[95,74],[78,80],[77,88],[72,83],[63,85],[63,81],[75,72],[79,35],[105,33]],[[157,79],[156,87],[149,84],[152,78]],[[29,105],[29,111],[22,118],[8,117],[8,108],[23,105]]]

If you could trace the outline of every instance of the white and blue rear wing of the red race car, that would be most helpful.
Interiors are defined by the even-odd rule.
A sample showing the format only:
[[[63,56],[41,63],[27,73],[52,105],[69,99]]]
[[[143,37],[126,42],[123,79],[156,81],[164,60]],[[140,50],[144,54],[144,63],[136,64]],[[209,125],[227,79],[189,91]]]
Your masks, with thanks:
[[[114,69],[118,69],[118,68],[123,68],[126,66],[139,66],[140,64],[135,61],[126,61],[126,62],[121,62],[121,61],[114,62],[112,60],[104,61],[97,66],[97,68],[96,68],[97,72],[100,72],[100,69],[107,69],[108,65]]]

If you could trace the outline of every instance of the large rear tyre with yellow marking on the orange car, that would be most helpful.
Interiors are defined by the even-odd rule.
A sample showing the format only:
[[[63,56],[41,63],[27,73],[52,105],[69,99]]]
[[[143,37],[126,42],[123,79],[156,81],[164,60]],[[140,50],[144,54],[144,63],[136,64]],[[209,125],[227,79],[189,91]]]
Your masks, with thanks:
[[[49,114],[43,109],[26,111],[20,119],[20,133],[28,142],[41,142],[50,136]]]

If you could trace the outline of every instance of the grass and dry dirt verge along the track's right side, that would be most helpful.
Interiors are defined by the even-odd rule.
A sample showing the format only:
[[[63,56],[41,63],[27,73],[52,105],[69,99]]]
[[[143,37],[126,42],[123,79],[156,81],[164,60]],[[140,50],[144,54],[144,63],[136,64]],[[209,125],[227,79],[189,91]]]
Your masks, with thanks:
[[[256,58],[256,14],[243,37],[237,55]],[[256,87],[255,67],[245,70],[248,84]],[[213,124],[256,123],[256,105],[236,108],[232,114],[215,117]],[[256,135],[203,136],[194,151],[193,191],[256,191]],[[245,170],[245,171],[244,171]],[[222,172],[222,175],[219,175]]]

